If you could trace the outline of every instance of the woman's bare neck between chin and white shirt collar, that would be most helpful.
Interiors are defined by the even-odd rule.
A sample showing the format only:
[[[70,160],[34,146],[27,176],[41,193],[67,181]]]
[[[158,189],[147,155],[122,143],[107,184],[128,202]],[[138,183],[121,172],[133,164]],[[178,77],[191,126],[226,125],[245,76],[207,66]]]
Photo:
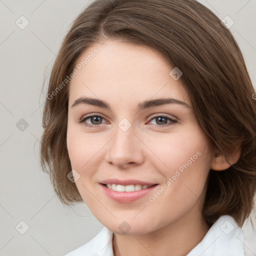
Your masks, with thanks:
[[[149,233],[140,235],[115,233],[113,253],[114,256],[185,256],[202,240],[208,229],[209,226],[201,214],[190,212]]]

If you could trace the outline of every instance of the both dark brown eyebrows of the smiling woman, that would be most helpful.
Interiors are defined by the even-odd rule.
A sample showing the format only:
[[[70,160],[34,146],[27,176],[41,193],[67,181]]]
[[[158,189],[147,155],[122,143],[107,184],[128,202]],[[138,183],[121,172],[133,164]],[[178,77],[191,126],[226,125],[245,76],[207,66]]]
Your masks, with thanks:
[[[106,108],[111,110],[110,105],[101,99],[98,98],[91,98],[91,97],[80,97],[77,98],[71,107],[75,107],[77,105],[80,104],[89,104],[89,105],[94,105],[94,106],[98,106],[101,108]],[[137,105],[137,111],[140,111],[142,109],[145,108],[149,108],[149,107],[154,107],[154,106],[160,106],[160,105],[165,105],[165,104],[179,104],[188,108],[191,108],[190,105],[188,105],[186,102],[183,102],[179,99],[176,98],[157,98],[157,99],[150,99],[150,100],[144,100],[140,103],[138,103]]]

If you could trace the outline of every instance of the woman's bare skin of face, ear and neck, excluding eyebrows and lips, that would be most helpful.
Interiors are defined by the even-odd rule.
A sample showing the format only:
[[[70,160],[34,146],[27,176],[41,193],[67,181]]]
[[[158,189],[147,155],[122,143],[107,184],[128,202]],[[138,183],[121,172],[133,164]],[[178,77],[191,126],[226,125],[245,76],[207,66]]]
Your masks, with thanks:
[[[169,75],[172,67],[158,51],[108,39],[87,48],[77,63],[95,48],[99,52],[72,78],[69,87],[67,148],[72,169],[80,175],[75,182],[78,191],[93,215],[114,232],[115,256],[186,255],[209,228],[201,216],[209,169],[222,170],[230,164],[211,151],[192,107],[169,103],[137,112],[139,102],[152,98],[172,97],[191,106],[189,95],[180,80]],[[89,104],[72,107],[81,96],[104,100],[111,111]],[[86,119],[95,127],[78,122],[91,113],[104,118],[97,122]],[[161,127],[155,114],[177,122]],[[123,118],[131,124],[127,131],[118,127]],[[162,122],[167,123],[170,120]],[[149,195],[197,151],[200,156],[150,202]],[[238,155],[229,162],[237,159]],[[134,202],[120,203],[102,192],[99,182],[106,178],[159,185]],[[118,228],[123,221],[130,226],[125,234]]]

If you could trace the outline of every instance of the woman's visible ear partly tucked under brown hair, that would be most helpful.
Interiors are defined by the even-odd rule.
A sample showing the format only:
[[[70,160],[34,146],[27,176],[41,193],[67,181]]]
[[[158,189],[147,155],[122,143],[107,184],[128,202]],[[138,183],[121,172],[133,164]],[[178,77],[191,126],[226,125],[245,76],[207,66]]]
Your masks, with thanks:
[[[213,170],[225,170],[231,165],[236,163],[241,155],[241,147],[237,146],[230,157],[227,159],[223,154],[215,152],[214,157],[211,160],[210,168]]]

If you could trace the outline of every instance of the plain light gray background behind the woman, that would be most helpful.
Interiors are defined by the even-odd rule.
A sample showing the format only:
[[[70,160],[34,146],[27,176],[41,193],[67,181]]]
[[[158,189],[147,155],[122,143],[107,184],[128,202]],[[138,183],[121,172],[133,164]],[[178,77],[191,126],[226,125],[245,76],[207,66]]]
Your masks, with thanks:
[[[40,169],[38,154],[44,72],[49,73],[70,23],[89,2],[0,0],[1,256],[63,255],[102,227],[84,203],[71,208],[60,203]],[[230,30],[255,86],[256,0],[200,2],[220,19],[228,15],[234,20]],[[21,15],[29,21],[24,29],[15,23]],[[24,124],[23,130],[16,123]],[[26,224],[20,221],[29,227],[24,234],[20,232]],[[243,229],[250,241],[256,240],[249,223]],[[256,255],[256,245],[248,246]]]

